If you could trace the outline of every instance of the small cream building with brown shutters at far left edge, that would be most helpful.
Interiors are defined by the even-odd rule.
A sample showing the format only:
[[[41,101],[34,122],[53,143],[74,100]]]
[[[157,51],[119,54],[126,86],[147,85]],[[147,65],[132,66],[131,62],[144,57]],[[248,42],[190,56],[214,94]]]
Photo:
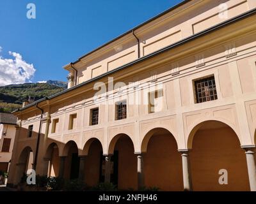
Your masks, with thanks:
[[[0,171],[8,172],[12,158],[17,117],[11,113],[0,113]]]

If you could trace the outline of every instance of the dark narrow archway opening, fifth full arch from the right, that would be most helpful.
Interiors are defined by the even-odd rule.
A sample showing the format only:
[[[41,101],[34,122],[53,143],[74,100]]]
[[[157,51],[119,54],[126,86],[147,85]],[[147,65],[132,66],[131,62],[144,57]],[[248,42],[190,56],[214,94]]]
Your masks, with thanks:
[[[69,141],[65,145],[64,149],[65,152],[67,152],[67,157],[65,159],[64,178],[78,179],[80,158],[78,156],[78,148],[76,142]]]

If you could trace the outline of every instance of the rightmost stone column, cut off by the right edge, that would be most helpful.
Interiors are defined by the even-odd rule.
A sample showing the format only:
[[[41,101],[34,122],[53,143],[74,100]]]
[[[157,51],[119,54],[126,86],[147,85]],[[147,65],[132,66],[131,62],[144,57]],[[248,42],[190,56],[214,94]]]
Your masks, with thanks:
[[[256,164],[255,164],[255,147],[243,147],[246,154],[249,182],[251,191],[256,191]]]

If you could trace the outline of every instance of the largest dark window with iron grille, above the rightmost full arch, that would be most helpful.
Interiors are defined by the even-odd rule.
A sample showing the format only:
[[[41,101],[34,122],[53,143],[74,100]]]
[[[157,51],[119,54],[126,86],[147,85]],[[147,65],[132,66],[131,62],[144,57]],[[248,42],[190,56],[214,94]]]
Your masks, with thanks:
[[[203,103],[218,99],[214,77],[196,80],[195,94],[196,103]]]

